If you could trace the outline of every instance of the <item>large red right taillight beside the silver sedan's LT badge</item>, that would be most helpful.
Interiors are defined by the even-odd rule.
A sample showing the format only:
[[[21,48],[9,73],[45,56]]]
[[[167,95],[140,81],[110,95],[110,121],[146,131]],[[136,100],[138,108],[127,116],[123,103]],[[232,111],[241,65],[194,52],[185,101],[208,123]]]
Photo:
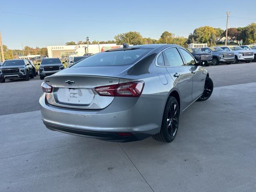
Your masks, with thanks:
[[[144,82],[130,82],[108,86],[95,87],[100,96],[139,97],[144,88]]]

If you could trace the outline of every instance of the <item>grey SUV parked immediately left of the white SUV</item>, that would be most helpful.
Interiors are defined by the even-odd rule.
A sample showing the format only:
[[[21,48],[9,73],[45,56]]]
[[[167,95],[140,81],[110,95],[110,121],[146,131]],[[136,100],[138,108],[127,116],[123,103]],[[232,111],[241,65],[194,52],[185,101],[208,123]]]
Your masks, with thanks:
[[[204,47],[201,50],[212,54],[212,65],[218,65],[219,63],[231,64],[235,59],[234,52],[225,52],[219,47]]]

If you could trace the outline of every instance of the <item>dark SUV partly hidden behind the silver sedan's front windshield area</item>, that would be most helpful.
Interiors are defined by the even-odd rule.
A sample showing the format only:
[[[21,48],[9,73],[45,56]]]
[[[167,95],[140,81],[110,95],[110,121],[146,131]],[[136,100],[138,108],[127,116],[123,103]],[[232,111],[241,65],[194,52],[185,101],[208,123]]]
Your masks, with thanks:
[[[198,48],[187,48],[187,50],[196,58],[196,60],[200,63],[203,62],[204,66],[209,66],[212,64],[212,54],[202,52]]]

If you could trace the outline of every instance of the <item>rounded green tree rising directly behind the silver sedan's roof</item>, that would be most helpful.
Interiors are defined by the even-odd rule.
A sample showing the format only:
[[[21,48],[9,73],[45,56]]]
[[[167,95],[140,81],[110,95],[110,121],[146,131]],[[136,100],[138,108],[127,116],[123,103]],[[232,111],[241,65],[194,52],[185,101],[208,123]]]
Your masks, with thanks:
[[[143,38],[139,32],[130,31],[127,33],[121,33],[114,36],[116,44],[121,45],[123,43],[139,45],[143,43]]]

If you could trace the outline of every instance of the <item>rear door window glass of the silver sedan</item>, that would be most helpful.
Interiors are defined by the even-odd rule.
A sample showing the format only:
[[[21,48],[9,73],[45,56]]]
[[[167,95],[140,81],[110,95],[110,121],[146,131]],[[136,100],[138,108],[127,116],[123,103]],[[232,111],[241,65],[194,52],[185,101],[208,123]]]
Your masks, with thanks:
[[[166,66],[182,66],[184,65],[182,58],[176,48],[169,48],[163,51],[164,63]]]

